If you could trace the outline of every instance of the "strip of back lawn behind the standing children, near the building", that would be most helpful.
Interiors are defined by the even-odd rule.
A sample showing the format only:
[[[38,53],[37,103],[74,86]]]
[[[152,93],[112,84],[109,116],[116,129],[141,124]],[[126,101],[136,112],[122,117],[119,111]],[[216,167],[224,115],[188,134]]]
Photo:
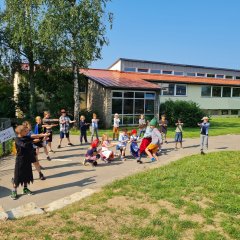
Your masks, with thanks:
[[[225,134],[240,134],[240,118],[222,118],[216,117],[212,118],[210,121],[210,135],[211,136],[218,136],[218,135],[225,135]],[[133,129],[134,127],[127,127],[129,130]],[[71,130],[71,133],[74,135],[79,135],[79,131]],[[112,129],[107,130],[99,130],[99,135],[102,136],[103,133],[109,134],[112,137]],[[90,132],[88,131],[88,135],[90,136]],[[168,128],[168,137],[173,138],[175,135],[175,128],[169,127]],[[199,127],[196,124],[195,128],[183,128],[183,136],[185,138],[195,138],[199,137]]]

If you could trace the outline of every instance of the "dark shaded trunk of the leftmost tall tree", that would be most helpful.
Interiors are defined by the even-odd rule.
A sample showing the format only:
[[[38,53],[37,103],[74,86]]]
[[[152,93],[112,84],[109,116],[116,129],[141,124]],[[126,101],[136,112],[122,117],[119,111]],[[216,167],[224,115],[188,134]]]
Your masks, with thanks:
[[[34,61],[29,59],[29,86],[30,86],[30,102],[29,102],[29,116],[34,117],[36,113],[36,94],[34,82]]]

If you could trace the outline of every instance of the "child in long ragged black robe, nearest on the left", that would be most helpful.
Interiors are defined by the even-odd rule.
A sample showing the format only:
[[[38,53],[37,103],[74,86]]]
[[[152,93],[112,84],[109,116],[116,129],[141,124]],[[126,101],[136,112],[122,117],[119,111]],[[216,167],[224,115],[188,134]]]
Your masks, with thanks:
[[[17,137],[15,145],[17,150],[16,163],[14,169],[14,178],[12,179],[13,190],[11,198],[16,200],[17,188],[19,184],[23,185],[23,194],[32,195],[27,185],[33,183],[32,162],[35,161],[33,140],[27,136],[28,128],[20,125],[15,130]]]

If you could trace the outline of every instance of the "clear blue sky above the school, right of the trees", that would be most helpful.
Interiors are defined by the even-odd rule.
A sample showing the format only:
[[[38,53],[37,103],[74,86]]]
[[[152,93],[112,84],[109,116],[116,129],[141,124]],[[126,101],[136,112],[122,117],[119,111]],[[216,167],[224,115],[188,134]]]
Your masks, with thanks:
[[[240,69],[239,0],[112,0],[102,60],[117,58]]]

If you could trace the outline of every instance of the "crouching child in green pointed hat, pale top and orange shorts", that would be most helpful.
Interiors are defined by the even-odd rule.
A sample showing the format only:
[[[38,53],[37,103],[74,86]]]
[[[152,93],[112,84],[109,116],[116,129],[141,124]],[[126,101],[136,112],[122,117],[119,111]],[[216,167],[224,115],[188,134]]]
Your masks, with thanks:
[[[157,160],[156,153],[158,151],[158,148],[160,148],[162,142],[161,133],[156,128],[156,126],[157,120],[154,118],[150,122],[150,128],[152,128],[152,141],[145,150],[146,154],[151,158],[152,162],[155,162]]]

